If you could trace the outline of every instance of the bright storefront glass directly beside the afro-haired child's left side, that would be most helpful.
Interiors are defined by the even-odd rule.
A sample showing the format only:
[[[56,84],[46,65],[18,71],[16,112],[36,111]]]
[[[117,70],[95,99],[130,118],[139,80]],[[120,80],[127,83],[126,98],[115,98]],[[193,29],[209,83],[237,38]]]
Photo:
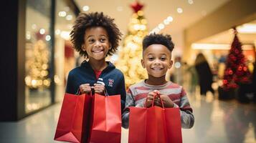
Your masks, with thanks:
[[[65,93],[67,74],[76,66],[76,53],[70,42],[70,31],[76,16],[65,1],[56,1],[55,18],[55,101],[60,102]]]

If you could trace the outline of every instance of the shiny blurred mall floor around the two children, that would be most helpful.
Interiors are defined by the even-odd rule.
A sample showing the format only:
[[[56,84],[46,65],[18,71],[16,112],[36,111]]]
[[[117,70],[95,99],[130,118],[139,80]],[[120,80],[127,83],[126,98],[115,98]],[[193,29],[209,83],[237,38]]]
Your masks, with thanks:
[[[235,100],[219,101],[207,94],[189,96],[194,109],[192,129],[182,129],[184,143],[256,142],[256,104],[240,104]],[[54,142],[54,132],[60,114],[60,104],[19,122],[0,122],[0,142]],[[128,130],[122,130],[122,142],[128,142]]]

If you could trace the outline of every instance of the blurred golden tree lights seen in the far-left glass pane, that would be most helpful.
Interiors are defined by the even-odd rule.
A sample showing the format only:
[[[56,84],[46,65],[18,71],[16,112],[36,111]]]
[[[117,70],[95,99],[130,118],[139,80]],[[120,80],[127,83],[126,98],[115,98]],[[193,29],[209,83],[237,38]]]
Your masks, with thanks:
[[[29,89],[49,87],[49,50],[44,40],[44,34],[36,34],[38,40],[27,43],[25,83]]]

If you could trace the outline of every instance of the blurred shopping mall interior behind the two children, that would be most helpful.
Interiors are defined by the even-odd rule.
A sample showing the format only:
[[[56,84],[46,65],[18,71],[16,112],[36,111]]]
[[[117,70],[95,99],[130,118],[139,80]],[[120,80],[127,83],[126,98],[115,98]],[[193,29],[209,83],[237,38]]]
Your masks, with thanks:
[[[85,60],[70,31],[81,12],[103,11],[123,34],[107,60],[123,72],[126,88],[147,78],[143,37],[171,35],[174,64],[166,80],[184,87],[195,118],[194,127],[181,130],[184,143],[256,143],[255,0],[4,3],[0,142],[57,142],[67,75]],[[128,129],[122,128],[121,142],[128,142]]]

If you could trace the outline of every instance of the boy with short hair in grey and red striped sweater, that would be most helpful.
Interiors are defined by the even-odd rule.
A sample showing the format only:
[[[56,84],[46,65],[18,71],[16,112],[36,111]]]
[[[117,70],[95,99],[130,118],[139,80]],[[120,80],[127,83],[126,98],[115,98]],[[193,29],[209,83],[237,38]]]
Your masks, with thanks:
[[[174,43],[168,34],[150,34],[143,39],[141,64],[148,72],[148,79],[133,84],[128,89],[125,111],[122,114],[124,128],[128,128],[128,107],[151,107],[153,96],[156,94],[159,94],[163,100],[163,107],[180,108],[182,128],[193,127],[194,115],[184,88],[166,81],[166,72],[173,64],[171,60],[173,49]],[[161,99],[154,99],[154,105],[162,107]]]

